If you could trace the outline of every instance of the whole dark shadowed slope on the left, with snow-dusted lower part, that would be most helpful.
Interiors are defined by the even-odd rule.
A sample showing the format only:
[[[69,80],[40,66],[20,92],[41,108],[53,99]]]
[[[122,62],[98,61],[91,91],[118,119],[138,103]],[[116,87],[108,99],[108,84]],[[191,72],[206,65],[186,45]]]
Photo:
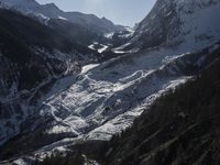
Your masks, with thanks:
[[[0,22],[2,144],[18,134],[20,123],[34,112],[30,105],[43,95],[38,94],[41,88],[58,77],[80,72],[80,65],[97,56],[89,48],[20,13],[0,9]]]

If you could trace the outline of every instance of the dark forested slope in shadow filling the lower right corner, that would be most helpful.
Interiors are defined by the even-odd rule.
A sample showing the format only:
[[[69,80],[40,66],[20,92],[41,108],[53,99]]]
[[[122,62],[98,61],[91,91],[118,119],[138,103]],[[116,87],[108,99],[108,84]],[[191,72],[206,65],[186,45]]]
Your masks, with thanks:
[[[111,140],[108,164],[220,163],[220,50],[215,54],[218,59],[195,80],[157,99],[131,129]]]

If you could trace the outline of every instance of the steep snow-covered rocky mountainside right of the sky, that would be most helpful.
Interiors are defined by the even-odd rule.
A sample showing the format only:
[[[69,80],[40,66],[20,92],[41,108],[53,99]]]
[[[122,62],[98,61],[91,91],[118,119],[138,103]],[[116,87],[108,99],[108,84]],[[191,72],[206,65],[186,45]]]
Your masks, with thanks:
[[[172,7],[170,3],[176,3],[175,9],[167,8]],[[174,13],[175,16],[168,22],[174,30],[168,32],[169,37],[164,40],[164,44],[183,42],[183,46],[190,50],[210,46],[220,40],[219,9],[219,0],[164,0],[156,3],[150,15],[140,23],[129,43],[133,43],[135,48],[145,48],[142,37],[155,33],[155,28],[157,32],[163,32],[160,20]],[[158,15],[157,11],[163,11],[164,15]]]

